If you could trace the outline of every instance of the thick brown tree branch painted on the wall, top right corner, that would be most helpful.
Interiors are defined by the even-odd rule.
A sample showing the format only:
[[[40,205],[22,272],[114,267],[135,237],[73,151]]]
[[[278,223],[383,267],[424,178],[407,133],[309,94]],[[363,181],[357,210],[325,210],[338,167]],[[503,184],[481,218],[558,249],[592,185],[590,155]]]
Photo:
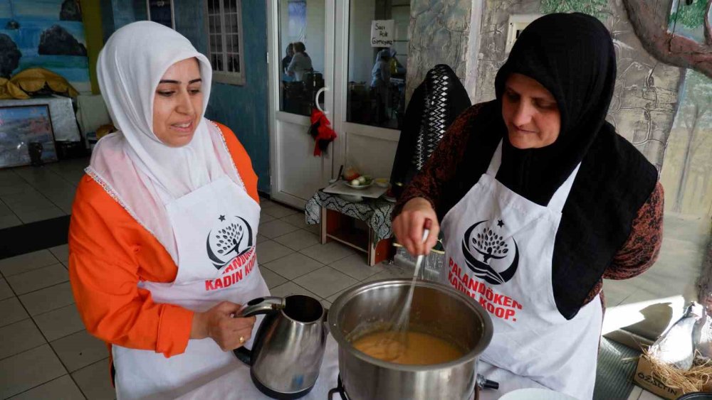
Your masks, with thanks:
[[[708,0],[708,11],[709,3],[712,0]],[[698,43],[669,32],[666,28],[667,13],[656,12],[656,4],[656,1],[649,0],[623,0],[628,18],[645,50],[663,63],[692,68],[712,77],[712,39],[708,15],[704,23],[706,43]]]

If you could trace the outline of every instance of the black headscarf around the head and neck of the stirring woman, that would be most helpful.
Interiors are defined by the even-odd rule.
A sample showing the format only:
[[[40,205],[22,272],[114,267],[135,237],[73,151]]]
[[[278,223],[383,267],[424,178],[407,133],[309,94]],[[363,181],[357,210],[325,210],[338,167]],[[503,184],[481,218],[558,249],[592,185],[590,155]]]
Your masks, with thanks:
[[[497,178],[525,198],[547,205],[607,124],[616,80],[613,43],[607,29],[592,16],[543,16],[520,33],[497,72],[495,89],[500,102],[513,73],[533,78],[553,94],[561,129],[557,140],[543,148],[521,150],[505,140]]]

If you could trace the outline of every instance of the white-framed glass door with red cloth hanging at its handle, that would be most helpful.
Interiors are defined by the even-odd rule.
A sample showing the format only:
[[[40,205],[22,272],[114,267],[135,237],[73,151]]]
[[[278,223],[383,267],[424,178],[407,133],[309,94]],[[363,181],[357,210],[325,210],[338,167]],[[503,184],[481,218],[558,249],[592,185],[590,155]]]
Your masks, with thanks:
[[[333,110],[334,0],[268,1],[271,195],[304,207],[331,178],[331,151],[314,156],[314,109]],[[331,147],[331,146],[330,146]]]

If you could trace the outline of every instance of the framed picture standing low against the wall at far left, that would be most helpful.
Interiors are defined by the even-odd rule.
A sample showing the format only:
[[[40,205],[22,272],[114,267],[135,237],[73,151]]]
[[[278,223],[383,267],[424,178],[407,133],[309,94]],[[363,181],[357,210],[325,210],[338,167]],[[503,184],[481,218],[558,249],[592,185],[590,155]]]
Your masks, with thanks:
[[[57,161],[47,104],[0,107],[0,168]]]

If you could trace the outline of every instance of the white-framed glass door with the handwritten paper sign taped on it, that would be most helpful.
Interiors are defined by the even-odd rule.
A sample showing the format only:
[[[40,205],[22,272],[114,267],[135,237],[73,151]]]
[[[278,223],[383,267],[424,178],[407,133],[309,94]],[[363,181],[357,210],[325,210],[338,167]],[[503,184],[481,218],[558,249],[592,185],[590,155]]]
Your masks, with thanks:
[[[388,178],[406,107],[410,0],[339,0],[336,21],[335,173]]]

